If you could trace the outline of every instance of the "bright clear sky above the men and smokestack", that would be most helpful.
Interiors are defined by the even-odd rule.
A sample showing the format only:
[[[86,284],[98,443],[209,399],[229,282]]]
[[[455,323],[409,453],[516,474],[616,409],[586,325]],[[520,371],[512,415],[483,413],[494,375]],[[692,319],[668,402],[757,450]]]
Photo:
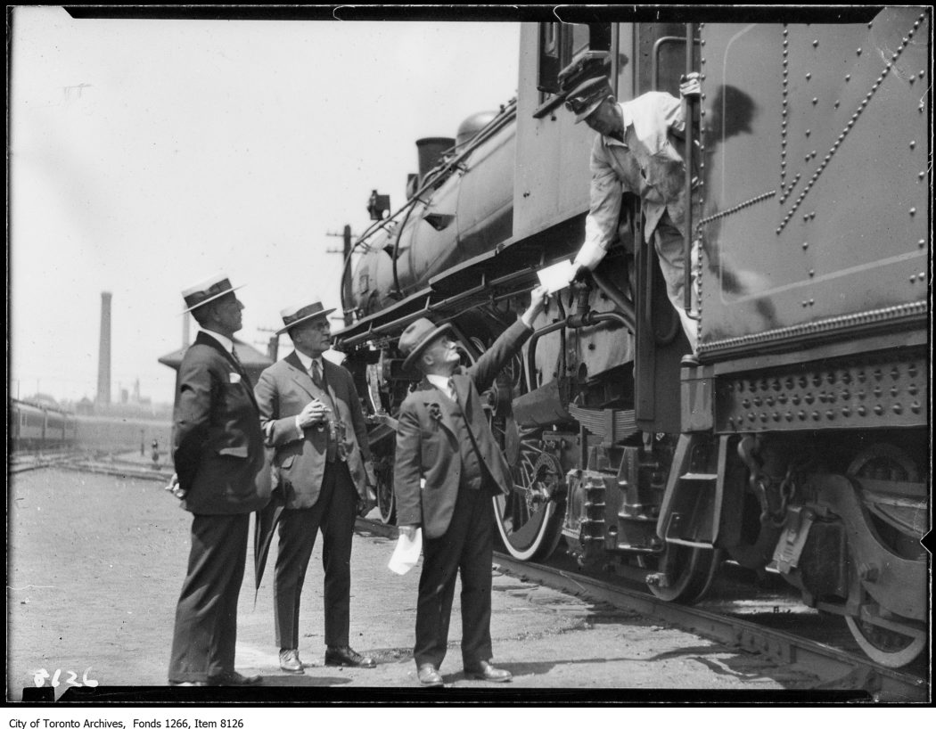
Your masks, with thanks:
[[[238,337],[339,307],[345,224],[395,210],[416,139],[517,93],[519,24],[72,20],[13,11],[10,394],[94,399],[101,292],[111,399],[172,401],[181,291],[227,273]],[[338,325],[340,327],[340,325]],[[192,323],[194,337],[197,327]]]

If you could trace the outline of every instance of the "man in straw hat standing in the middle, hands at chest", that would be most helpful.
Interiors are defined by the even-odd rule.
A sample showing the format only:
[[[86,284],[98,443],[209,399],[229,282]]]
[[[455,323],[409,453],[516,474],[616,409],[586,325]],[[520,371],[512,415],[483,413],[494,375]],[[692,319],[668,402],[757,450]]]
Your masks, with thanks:
[[[325,568],[325,664],[373,668],[348,644],[351,542],[355,517],[373,507],[371,450],[351,373],[322,357],[331,346],[329,313],[318,301],[281,312],[295,346],[256,384],[260,425],[274,449],[274,500],[280,504],[279,552],[273,590],[280,667],[301,674],[299,612],[302,582],[316,532]],[[269,542],[268,542],[269,544]],[[259,572],[262,570],[258,568]]]

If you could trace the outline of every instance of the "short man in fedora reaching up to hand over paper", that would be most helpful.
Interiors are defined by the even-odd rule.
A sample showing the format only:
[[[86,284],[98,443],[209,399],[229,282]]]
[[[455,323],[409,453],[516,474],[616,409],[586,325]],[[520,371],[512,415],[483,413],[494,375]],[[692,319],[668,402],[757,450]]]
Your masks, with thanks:
[[[400,408],[393,488],[397,524],[409,538],[423,531],[416,648],[419,682],[441,687],[455,578],[461,572],[461,661],[468,678],[509,681],[490,663],[491,497],[512,484],[494,442],[478,390],[490,387],[507,360],[533,332],[546,289],[531,294],[529,309],[506,328],[475,364],[463,370],[451,325],[417,319],[403,331],[404,369],[424,375]]]

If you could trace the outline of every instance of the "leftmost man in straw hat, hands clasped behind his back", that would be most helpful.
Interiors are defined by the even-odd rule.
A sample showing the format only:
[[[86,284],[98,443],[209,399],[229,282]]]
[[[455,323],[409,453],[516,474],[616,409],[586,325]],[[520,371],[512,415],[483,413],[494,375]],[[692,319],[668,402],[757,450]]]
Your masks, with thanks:
[[[270,497],[254,391],[234,349],[243,309],[234,291],[223,275],[183,291],[202,330],[179,366],[172,424],[178,490],[193,514],[168,672],[179,686],[260,682],[234,670],[250,513]]]

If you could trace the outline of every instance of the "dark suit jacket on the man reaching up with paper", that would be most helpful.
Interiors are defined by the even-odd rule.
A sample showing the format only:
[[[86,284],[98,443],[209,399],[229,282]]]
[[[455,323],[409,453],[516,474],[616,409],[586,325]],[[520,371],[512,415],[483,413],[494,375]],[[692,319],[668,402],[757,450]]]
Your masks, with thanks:
[[[510,469],[490,433],[478,391],[490,387],[532,333],[518,320],[472,367],[460,368],[452,377],[465,423],[475,436],[482,468],[505,494],[513,482]],[[430,539],[448,530],[459,493],[461,456],[451,419],[453,407],[454,403],[425,378],[400,406],[393,473],[397,523],[419,524]],[[425,488],[420,488],[421,479],[426,480]]]

